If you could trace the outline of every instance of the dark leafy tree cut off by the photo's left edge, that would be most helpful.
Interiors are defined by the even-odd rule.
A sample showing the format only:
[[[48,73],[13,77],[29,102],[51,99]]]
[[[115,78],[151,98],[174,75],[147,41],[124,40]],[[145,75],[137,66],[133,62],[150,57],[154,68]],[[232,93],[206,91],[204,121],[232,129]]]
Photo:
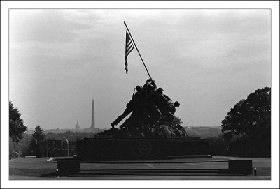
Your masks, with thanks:
[[[20,116],[18,108],[14,108],[13,103],[9,101],[9,135],[17,143],[22,139],[22,133],[25,133],[27,129]]]

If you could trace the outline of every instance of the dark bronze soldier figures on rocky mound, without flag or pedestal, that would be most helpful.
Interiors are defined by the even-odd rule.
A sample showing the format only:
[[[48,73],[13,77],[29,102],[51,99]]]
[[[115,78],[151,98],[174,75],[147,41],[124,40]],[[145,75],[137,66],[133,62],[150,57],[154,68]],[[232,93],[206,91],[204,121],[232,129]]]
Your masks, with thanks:
[[[105,138],[172,138],[187,137],[186,130],[180,125],[172,126],[176,107],[180,103],[172,102],[171,98],[163,94],[163,89],[158,88],[154,80],[148,79],[144,86],[137,86],[137,92],[127,103],[123,114],[111,123],[111,130],[97,133],[95,137]],[[135,91],[135,89],[134,89]],[[115,128],[120,121],[130,117]]]

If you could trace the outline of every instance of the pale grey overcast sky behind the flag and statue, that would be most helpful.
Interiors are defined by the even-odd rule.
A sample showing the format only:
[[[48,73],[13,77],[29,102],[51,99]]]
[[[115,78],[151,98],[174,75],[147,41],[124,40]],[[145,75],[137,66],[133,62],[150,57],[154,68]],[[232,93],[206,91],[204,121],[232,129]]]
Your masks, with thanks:
[[[269,9],[12,9],[9,100],[28,128],[110,128],[148,74],[178,100],[183,126],[221,126],[239,100],[271,87]]]

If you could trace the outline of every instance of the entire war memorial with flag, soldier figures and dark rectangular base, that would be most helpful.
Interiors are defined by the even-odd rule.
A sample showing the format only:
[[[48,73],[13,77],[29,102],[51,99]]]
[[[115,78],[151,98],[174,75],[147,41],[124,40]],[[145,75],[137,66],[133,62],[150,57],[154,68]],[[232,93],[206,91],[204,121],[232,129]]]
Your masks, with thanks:
[[[125,70],[127,56],[134,43],[127,25]],[[146,65],[139,53],[142,63]],[[146,68],[148,73],[148,69]],[[191,138],[175,116],[179,101],[169,98],[148,73],[143,86],[135,87],[132,99],[127,100],[123,114],[111,122],[111,129],[94,137],[77,140],[80,160],[157,159],[179,155],[207,155],[207,139]],[[130,116],[129,116],[130,115]],[[129,116],[129,117],[127,117]],[[121,125],[119,123],[125,120]]]

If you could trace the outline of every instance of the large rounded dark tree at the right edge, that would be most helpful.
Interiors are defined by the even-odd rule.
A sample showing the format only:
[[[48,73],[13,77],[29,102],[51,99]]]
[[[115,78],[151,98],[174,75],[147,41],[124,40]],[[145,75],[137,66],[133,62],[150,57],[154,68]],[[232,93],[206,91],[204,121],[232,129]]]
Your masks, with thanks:
[[[230,109],[222,121],[224,139],[235,156],[270,157],[271,89],[257,89]]]

